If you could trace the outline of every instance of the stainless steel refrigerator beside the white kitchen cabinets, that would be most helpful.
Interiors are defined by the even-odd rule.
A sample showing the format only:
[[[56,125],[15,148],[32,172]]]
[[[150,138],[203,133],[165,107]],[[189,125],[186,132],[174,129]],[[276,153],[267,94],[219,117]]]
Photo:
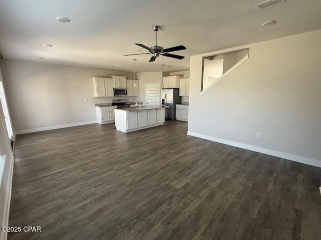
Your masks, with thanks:
[[[165,108],[165,118],[176,120],[176,105],[181,104],[182,99],[179,93],[179,88],[163,88],[162,89],[162,104],[169,106]]]

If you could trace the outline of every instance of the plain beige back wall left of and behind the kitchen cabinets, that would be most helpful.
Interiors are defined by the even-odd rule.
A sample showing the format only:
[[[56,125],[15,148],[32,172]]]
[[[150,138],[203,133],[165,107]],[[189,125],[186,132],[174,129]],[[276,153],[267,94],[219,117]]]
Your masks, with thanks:
[[[103,99],[111,102],[117,97],[94,97],[91,77],[134,78],[130,72],[18,60],[1,60],[0,66],[16,131],[95,121],[94,104],[104,102]],[[136,97],[118,98],[136,100]]]

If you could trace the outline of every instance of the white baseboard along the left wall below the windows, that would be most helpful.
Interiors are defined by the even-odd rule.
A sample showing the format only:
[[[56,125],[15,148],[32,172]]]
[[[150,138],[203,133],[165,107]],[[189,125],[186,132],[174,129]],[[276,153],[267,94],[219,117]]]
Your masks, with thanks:
[[[10,159],[10,166],[9,166],[9,174],[8,174],[8,186],[6,189],[6,198],[5,198],[5,206],[4,206],[4,215],[3,215],[3,226],[8,226],[9,224],[9,210],[10,210],[10,201],[11,201],[11,192],[12,192],[12,177],[14,173],[14,154]],[[0,231],[0,239],[7,240],[7,232]]]

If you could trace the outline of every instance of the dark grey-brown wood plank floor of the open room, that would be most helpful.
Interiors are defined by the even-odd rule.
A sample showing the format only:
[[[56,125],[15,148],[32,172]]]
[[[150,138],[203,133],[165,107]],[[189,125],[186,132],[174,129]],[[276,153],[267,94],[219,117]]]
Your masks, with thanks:
[[[17,135],[8,239],[321,239],[320,168],[186,134]]]

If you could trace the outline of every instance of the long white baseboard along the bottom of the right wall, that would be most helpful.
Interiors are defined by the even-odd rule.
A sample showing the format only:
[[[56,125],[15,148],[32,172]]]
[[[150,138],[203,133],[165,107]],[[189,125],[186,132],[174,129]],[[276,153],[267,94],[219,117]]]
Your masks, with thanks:
[[[293,155],[293,154],[286,153],[286,152],[275,151],[275,150],[271,150],[271,149],[267,149],[267,148],[263,148],[263,147],[248,145],[245,143],[226,140],[226,139],[222,139],[222,138],[218,138],[218,137],[214,137],[214,136],[209,136],[209,135],[205,135],[205,134],[201,134],[201,133],[197,133],[197,132],[193,132],[193,131],[188,131],[187,134],[190,136],[196,136],[196,137],[200,137],[200,138],[207,139],[210,141],[215,141],[215,142],[219,142],[219,143],[223,143],[223,144],[227,144],[227,145],[231,145],[231,146],[236,146],[236,147],[240,147],[243,149],[260,152],[260,153],[284,158],[284,159],[291,160],[291,161],[296,161],[296,162],[300,162],[300,163],[304,163],[304,164],[308,164],[308,165],[312,165],[312,166],[321,167],[320,160],[307,158],[304,156],[298,156],[298,155]]]

